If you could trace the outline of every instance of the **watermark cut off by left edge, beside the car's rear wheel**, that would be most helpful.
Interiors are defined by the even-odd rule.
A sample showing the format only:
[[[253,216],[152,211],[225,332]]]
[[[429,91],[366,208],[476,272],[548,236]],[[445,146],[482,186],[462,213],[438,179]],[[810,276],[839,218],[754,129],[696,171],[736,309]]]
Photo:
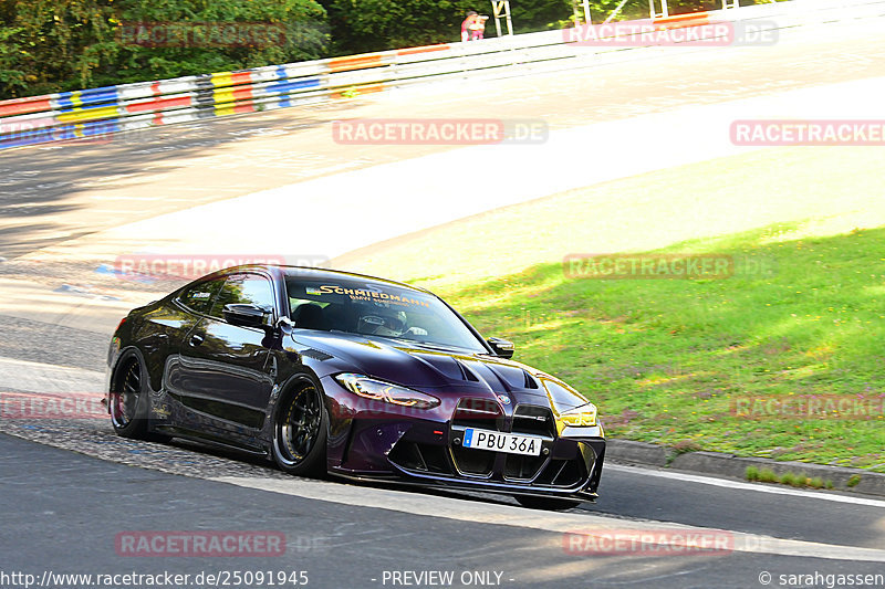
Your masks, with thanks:
[[[107,419],[100,392],[0,392],[0,419]]]

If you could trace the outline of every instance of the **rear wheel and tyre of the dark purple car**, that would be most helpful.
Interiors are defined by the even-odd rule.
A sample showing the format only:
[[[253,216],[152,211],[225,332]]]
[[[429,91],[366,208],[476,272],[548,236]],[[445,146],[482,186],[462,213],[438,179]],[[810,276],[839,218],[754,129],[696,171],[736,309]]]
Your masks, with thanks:
[[[147,414],[150,406],[142,362],[132,356],[123,360],[111,381],[107,407],[114,431],[123,438],[147,438]]]

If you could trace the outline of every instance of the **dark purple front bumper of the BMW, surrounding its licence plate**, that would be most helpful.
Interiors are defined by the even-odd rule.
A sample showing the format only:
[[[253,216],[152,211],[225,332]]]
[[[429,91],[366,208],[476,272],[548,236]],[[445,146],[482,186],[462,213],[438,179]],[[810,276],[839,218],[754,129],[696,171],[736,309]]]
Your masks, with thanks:
[[[337,475],[511,495],[582,501],[597,496],[605,456],[602,430],[563,431],[550,408],[535,404],[537,399],[511,409],[493,399],[472,398],[475,407],[477,402],[492,407],[491,401],[500,410],[480,419],[476,413],[466,417],[460,412],[466,398],[455,398],[436,410],[404,413],[395,407],[387,412],[377,403],[372,411],[362,411],[364,403],[350,392],[332,392],[335,409],[329,465]],[[529,456],[462,448],[464,432],[471,427],[541,438],[542,452]]]

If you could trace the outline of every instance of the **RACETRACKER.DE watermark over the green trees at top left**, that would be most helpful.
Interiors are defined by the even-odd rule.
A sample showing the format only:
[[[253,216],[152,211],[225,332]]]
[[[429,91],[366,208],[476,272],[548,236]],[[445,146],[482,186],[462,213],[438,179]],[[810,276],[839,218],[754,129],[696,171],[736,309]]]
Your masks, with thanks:
[[[285,24],[256,21],[127,21],[116,36],[142,48],[270,48],[288,40]]]

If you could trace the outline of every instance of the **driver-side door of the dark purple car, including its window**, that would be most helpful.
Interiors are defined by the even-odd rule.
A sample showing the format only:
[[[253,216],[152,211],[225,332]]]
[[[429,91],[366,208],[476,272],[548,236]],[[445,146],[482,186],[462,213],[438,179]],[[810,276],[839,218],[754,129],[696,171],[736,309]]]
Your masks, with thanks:
[[[188,408],[188,427],[238,445],[258,446],[258,432],[273,388],[270,337],[260,327],[225,319],[228,304],[256,305],[275,320],[271,280],[260,273],[231,274],[208,315],[181,344],[179,395]]]

